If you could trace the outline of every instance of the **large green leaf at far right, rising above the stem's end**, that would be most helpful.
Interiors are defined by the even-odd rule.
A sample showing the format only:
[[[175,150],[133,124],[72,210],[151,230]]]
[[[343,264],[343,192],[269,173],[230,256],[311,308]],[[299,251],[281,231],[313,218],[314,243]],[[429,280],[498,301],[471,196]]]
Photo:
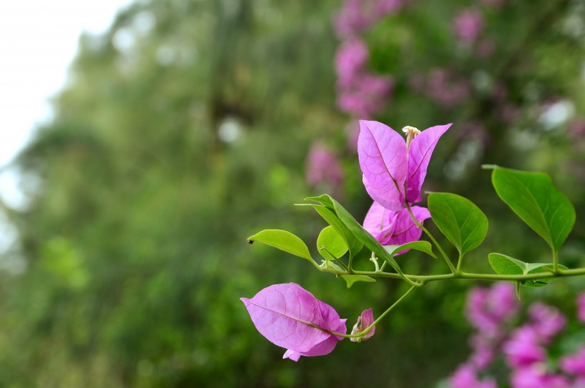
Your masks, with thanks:
[[[575,223],[571,201],[548,174],[492,168],[492,184],[498,196],[558,252]]]

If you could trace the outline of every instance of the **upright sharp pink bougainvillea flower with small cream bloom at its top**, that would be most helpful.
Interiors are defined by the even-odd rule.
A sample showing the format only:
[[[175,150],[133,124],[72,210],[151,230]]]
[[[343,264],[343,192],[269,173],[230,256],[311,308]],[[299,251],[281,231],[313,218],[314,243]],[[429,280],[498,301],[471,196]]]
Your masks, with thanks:
[[[407,140],[390,126],[377,121],[360,121],[357,154],[368,194],[388,210],[399,211],[420,202],[420,188],[434,146],[449,129],[447,125],[432,126],[419,131],[407,126]]]

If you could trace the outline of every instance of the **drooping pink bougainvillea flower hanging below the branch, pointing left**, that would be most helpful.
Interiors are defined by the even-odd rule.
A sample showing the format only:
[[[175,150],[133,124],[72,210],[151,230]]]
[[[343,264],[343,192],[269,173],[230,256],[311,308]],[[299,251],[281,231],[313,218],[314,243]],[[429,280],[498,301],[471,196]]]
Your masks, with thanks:
[[[273,284],[252,299],[240,298],[254,326],[268,341],[287,349],[283,358],[322,356],[345,334],[345,321],[329,304],[295,283]]]

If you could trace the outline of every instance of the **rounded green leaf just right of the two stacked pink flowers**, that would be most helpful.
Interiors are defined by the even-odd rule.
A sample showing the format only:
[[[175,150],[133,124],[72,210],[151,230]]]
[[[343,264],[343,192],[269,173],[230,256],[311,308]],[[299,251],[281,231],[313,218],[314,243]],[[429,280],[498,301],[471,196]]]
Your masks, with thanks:
[[[487,234],[487,217],[469,199],[457,194],[431,193],[428,204],[433,222],[459,254],[482,244]]]

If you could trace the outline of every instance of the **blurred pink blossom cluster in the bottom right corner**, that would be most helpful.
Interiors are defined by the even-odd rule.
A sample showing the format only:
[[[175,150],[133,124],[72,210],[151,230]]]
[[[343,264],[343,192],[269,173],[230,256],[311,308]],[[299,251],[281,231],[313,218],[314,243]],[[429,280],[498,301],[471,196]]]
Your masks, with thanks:
[[[585,293],[577,302],[581,317]],[[493,377],[478,377],[487,374],[497,357],[511,369],[512,388],[585,387],[585,345],[561,357],[556,367],[549,359],[547,347],[566,329],[566,317],[559,309],[536,302],[528,309],[527,322],[512,329],[510,324],[519,314],[514,286],[499,282],[490,289],[472,289],[466,314],[477,333],[470,342],[471,356],[449,378],[452,388],[497,387]]]

